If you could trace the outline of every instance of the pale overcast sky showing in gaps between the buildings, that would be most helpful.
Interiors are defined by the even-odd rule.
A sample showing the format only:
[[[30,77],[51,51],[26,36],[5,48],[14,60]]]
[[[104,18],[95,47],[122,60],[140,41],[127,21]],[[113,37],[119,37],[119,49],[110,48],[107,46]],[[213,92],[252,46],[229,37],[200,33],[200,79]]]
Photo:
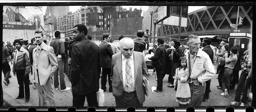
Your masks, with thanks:
[[[82,6],[69,6],[69,11],[73,13],[76,10],[80,9],[80,7],[82,7]],[[137,8],[137,9],[141,8],[141,10],[143,10],[143,11],[148,10],[148,6],[123,6],[123,8],[126,8],[127,10],[129,10],[130,7],[132,7],[132,10],[134,8]],[[206,7],[206,6],[189,6],[188,13],[193,12],[198,9],[201,9],[201,8],[204,8],[204,7]],[[43,6],[44,14],[45,14],[45,10],[46,10],[46,6]],[[143,11],[141,13],[141,16],[143,16]]]

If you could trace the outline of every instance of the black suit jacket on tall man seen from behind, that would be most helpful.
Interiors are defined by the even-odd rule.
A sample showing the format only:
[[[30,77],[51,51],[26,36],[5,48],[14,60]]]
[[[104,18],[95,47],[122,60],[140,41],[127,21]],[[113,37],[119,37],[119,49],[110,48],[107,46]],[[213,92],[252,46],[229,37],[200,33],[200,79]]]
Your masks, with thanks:
[[[97,44],[84,37],[71,53],[72,92],[79,95],[99,90],[100,51]]]

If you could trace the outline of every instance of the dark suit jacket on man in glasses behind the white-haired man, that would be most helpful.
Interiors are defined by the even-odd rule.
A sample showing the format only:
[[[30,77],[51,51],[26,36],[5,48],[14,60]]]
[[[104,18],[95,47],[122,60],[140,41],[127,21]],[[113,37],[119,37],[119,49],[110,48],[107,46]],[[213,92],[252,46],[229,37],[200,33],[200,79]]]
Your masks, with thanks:
[[[103,41],[99,48],[102,68],[111,68],[112,55],[114,54],[111,45]]]

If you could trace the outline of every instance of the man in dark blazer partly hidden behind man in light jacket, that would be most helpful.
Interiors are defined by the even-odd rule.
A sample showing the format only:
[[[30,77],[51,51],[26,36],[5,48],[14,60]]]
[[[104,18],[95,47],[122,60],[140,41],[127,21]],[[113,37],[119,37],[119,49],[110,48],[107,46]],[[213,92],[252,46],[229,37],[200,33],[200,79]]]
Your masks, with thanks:
[[[208,37],[203,38],[203,41],[202,41],[202,47],[204,47],[203,51],[205,51],[207,55],[209,55],[211,62],[213,62],[214,54],[210,45],[211,45],[211,39]],[[203,96],[203,102],[205,102],[205,99],[209,99],[209,92],[211,91],[210,90],[211,79],[206,81],[205,83],[206,83],[206,89],[205,89],[205,95]]]

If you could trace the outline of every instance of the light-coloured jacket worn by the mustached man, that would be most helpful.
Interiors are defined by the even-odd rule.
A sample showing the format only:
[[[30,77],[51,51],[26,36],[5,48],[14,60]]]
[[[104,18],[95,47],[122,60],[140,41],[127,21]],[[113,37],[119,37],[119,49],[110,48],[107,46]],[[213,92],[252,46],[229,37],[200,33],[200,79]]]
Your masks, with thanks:
[[[33,49],[33,60],[36,59],[37,47]],[[40,85],[45,85],[49,77],[53,77],[54,72],[58,68],[56,56],[53,47],[47,46],[44,42],[41,44],[41,50],[38,55],[38,74],[36,72],[36,62],[33,61],[33,79]]]

